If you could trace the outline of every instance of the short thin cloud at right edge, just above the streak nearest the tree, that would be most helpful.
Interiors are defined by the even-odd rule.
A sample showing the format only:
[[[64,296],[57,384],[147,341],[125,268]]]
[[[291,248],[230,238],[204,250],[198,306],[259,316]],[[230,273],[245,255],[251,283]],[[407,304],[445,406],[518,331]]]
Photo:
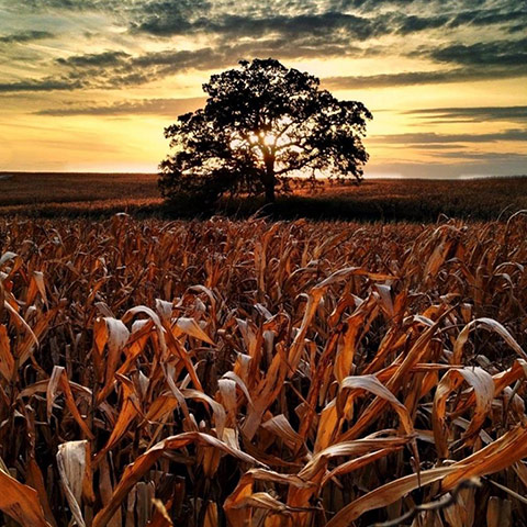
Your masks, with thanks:
[[[482,121],[527,121],[527,106],[426,108],[404,112],[429,122],[476,123]]]

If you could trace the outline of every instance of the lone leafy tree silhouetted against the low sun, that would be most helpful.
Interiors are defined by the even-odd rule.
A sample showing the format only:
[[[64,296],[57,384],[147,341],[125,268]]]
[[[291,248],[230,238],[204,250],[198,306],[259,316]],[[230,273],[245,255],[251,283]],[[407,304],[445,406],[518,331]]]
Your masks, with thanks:
[[[239,64],[203,85],[205,108],[165,130],[176,152],[159,166],[164,198],[212,203],[228,191],[273,202],[294,173],[362,179],[372,119],[362,103],[338,101],[272,58]]]

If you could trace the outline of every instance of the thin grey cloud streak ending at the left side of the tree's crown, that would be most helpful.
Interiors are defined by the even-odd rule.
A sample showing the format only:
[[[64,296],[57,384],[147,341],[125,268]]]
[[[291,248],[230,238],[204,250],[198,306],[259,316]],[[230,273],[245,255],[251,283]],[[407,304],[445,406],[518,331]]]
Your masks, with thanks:
[[[46,109],[35,112],[37,115],[71,116],[71,115],[161,115],[177,117],[178,115],[194,111],[203,106],[204,98],[189,99],[141,99],[115,102],[113,104],[96,104],[85,106],[67,106]]]

